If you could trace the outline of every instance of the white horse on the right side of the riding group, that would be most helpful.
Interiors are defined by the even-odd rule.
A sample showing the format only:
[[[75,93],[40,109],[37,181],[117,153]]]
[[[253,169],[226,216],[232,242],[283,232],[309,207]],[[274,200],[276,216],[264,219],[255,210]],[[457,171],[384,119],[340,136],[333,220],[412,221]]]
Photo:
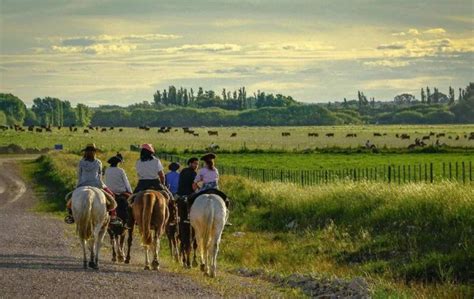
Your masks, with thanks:
[[[216,194],[198,196],[189,213],[201,254],[201,271],[210,277],[216,276],[217,253],[227,217],[224,200]]]

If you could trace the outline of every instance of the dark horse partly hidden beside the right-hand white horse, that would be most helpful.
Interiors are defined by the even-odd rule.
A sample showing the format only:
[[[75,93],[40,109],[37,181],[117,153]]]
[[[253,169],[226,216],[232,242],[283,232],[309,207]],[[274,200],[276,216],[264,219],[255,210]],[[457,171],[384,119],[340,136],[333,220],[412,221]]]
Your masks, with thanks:
[[[188,219],[188,202],[186,196],[180,196],[176,200],[178,203],[178,215],[179,215],[179,255],[185,268],[191,268],[191,246],[193,249],[193,261],[192,266],[197,266],[196,261],[196,249],[197,243],[194,238],[194,230],[191,227]]]

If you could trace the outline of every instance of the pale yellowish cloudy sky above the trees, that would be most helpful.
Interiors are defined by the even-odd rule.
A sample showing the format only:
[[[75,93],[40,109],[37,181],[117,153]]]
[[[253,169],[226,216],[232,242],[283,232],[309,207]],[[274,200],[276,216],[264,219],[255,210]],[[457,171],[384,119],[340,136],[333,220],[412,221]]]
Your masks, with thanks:
[[[474,81],[472,0],[0,0],[0,92],[152,101],[169,85],[301,102]]]

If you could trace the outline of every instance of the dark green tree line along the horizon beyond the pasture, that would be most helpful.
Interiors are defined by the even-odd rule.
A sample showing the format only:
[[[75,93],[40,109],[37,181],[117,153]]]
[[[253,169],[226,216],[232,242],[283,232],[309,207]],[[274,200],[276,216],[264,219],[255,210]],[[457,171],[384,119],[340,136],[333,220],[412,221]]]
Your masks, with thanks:
[[[153,102],[127,107],[88,107],[45,97],[31,108],[12,94],[0,94],[0,125],[44,126],[281,126],[337,124],[438,124],[474,123],[474,83],[445,95],[437,88],[421,89],[421,100],[401,94],[392,102],[376,101],[358,91],[357,99],[326,104],[303,104],[290,96],[256,92],[245,87],[222,90],[221,96],[202,88],[157,91]]]

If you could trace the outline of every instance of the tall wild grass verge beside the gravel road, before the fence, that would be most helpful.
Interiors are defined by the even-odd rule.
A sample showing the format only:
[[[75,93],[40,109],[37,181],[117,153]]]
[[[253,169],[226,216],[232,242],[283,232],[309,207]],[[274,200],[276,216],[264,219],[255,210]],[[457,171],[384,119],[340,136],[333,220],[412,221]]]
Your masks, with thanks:
[[[135,158],[136,153],[125,153],[132,185]],[[45,170],[40,176],[57,186],[58,194],[67,192],[74,186],[78,160],[72,154],[49,155],[40,161]],[[302,188],[224,176],[222,188],[234,203],[234,226],[226,230],[219,256],[223,265],[266,273],[363,276],[379,298],[474,294],[469,285],[474,279],[474,189],[469,185]],[[59,195],[43,210],[62,210]]]

